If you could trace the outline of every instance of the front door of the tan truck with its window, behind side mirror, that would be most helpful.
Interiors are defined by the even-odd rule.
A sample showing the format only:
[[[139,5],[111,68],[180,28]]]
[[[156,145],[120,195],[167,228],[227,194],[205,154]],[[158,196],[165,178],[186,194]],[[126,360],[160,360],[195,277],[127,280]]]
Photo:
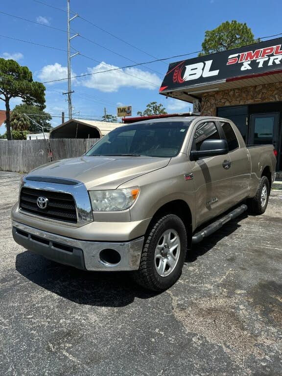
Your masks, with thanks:
[[[199,150],[204,140],[221,138],[224,139],[224,135],[218,123],[201,121],[193,132],[191,150]],[[225,163],[229,159],[227,154],[190,162],[195,187],[197,226],[230,208],[232,169],[230,166],[226,168]]]

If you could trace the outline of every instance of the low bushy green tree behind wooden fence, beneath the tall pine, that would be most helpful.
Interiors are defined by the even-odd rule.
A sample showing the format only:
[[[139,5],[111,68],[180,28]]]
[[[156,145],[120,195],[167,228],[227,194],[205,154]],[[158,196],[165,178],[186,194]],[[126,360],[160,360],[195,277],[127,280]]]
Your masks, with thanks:
[[[24,114],[27,114],[28,118]],[[36,123],[38,123],[39,125],[37,125],[34,121],[30,120],[29,118],[36,121]],[[18,104],[17,106],[15,106],[10,115],[10,123],[12,129],[28,129],[29,132],[42,132],[41,127],[44,128],[45,132],[48,132],[51,128],[51,124],[49,123],[49,120],[51,119],[51,115],[43,111],[43,109],[39,106],[28,105],[25,103]],[[20,128],[18,126],[19,122],[20,125],[21,122],[25,123],[26,125]]]

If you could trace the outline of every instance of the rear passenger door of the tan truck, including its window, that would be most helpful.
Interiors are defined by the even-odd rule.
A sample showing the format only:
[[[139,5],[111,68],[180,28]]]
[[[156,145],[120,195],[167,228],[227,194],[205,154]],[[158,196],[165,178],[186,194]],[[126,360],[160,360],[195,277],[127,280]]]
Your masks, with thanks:
[[[244,200],[249,194],[251,178],[251,158],[245,144],[238,141],[232,125],[228,121],[220,121],[224,132],[231,162],[232,184],[230,202],[232,206]]]

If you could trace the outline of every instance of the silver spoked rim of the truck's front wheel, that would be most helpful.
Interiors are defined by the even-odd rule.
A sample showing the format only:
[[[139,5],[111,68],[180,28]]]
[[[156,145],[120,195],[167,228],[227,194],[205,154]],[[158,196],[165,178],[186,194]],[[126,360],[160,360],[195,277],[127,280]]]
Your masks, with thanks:
[[[180,237],[175,230],[168,229],[160,236],[155,250],[155,268],[161,277],[173,272],[180,255]]]

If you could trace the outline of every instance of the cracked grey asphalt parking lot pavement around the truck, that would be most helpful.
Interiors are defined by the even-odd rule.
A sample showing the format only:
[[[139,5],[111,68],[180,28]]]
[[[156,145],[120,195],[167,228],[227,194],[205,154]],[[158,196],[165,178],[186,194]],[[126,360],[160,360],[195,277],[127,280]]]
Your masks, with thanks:
[[[20,174],[0,172],[1,376],[282,375],[282,192],[193,247],[152,294],[87,273],[11,235]]]

